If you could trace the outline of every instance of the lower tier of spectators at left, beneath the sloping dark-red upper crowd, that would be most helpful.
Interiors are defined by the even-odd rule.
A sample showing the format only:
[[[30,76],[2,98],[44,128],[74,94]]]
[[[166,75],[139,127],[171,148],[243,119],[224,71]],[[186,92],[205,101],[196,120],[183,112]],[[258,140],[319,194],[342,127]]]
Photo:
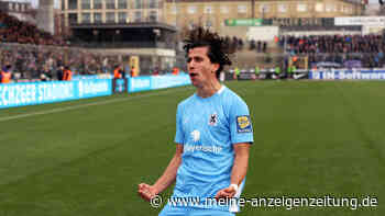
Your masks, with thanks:
[[[61,67],[68,67],[74,75],[107,73],[122,62],[121,56],[79,48],[0,43],[0,65],[11,67],[13,80],[58,79]]]

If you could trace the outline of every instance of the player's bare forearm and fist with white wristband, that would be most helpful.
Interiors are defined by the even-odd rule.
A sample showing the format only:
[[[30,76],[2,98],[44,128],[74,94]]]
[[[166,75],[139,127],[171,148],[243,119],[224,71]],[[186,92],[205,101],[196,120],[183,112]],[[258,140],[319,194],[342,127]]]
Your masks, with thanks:
[[[231,170],[230,186],[220,190],[217,198],[233,197],[238,192],[238,185],[242,183],[248,173],[250,143],[234,144],[234,162]]]

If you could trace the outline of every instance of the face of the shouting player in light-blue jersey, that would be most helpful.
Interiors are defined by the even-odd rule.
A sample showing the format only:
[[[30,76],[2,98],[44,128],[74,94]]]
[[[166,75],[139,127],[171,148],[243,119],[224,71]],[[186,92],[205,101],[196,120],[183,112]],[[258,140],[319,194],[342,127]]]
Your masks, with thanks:
[[[206,84],[210,84],[212,79],[217,79],[216,71],[219,65],[212,64],[207,54],[208,47],[191,48],[188,53],[188,73],[193,86],[197,88],[202,88]]]

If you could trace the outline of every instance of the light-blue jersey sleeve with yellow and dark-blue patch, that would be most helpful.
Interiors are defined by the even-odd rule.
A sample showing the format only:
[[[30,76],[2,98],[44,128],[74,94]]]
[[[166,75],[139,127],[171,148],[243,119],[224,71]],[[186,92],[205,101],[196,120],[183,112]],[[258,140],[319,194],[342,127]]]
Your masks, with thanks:
[[[253,143],[253,125],[246,103],[241,98],[234,98],[229,114],[231,143]]]

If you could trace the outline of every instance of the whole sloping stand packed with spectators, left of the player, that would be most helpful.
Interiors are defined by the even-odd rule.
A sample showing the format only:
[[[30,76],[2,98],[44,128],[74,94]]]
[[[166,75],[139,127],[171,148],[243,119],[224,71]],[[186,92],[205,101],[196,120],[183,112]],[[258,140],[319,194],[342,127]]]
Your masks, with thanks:
[[[61,35],[0,12],[0,66],[11,66],[13,81],[56,80],[62,66],[75,75],[112,71],[122,56],[69,47]]]

